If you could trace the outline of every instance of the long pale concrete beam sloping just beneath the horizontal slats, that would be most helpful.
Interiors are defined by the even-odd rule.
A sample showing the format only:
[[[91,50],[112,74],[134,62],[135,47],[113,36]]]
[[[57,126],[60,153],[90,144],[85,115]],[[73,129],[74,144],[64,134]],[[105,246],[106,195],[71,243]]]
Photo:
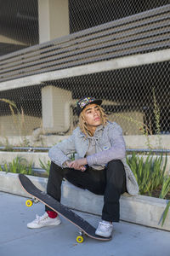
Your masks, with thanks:
[[[126,67],[137,67],[162,61],[170,61],[170,49],[162,49],[146,54],[130,55],[116,58],[111,61],[99,61],[88,65],[65,68],[62,70],[36,74],[21,79],[14,79],[0,83],[0,90],[11,90],[35,84],[42,84],[43,82],[51,80],[66,79],[86,74],[107,72]]]

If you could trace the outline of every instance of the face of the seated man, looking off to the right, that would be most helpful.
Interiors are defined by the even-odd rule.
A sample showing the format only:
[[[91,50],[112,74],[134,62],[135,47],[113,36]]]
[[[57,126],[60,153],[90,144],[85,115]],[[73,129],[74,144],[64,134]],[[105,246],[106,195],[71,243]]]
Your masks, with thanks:
[[[82,110],[82,114],[89,127],[97,127],[101,125],[101,113],[97,104],[89,104]]]

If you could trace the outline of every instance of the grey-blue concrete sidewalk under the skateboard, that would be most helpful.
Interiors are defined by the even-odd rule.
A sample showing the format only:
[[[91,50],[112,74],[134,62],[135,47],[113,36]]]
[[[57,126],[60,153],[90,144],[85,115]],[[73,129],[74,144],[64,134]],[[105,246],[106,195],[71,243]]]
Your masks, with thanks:
[[[57,227],[29,230],[27,222],[41,215],[41,203],[26,207],[26,198],[0,192],[0,255],[1,256],[169,256],[170,233],[121,222],[114,224],[111,241],[95,241],[86,237],[78,244],[77,227],[62,218]],[[95,227],[99,217],[78,212]]]

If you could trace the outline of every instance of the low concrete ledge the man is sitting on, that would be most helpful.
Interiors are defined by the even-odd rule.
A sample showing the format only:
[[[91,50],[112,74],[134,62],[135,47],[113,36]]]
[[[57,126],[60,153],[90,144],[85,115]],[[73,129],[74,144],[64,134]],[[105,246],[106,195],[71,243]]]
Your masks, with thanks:
[[[39,189],[46,190],[47,178],[32,176],[29,178]],[[29,197],[21,189],[18,175],[14,173],[0,172],[0,191]],[[94,195],[88,190],[79,189],[68,182],[63,183],[61,201],[67,207],[96,215],[101,215],[103,207],[102,195]],[[167,214],[162,228],[159,224],[162,213],[167,206],[166,200],[144,195],[130,196],[124,194],[120,203],[122,220],[170,231],[170,214]]]

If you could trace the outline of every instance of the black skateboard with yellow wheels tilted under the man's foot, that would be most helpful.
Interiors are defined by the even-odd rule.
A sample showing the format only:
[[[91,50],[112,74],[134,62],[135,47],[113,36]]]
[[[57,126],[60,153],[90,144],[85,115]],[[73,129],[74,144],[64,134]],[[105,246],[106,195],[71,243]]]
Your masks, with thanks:
[[[103,237],[95,235],[95,228],[88,221],[81,218],[77,213],[72,212],[69,207],[65,207],[59,201],[56,201],[52,196],[37,189],[37,187],[31,183],[31,180],[24,174],[19,174],[20,184],[28,194],[31,195],[32,200],[26,201],[26,206],[31,207],[33,203],[41,201],[44,205],[50,207],[54,212],[59,213],[62,217],[66,218],[72,224],[76,225],[79,229],[79,236],[77,236],[77,242],[84,241],[84,235],[94,238],[99,241],[109,241],[111,237]]]

